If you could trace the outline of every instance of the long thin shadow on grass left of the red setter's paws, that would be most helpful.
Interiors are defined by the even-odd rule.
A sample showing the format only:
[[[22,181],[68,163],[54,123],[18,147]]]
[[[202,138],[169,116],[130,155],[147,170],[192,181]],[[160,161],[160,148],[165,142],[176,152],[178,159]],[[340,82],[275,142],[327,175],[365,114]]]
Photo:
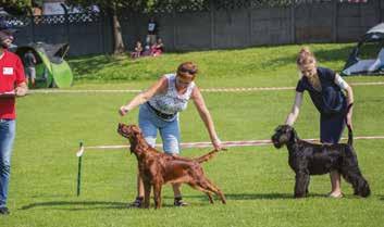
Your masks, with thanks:
[[[78,211],[78,210],[91,210],[92,209],[126,209],[127,203],[122,202],[104,202],[104,201],[78,201],[78,202],[71,202],[71,201],[52,201],[52,202],[40,202],[40,203],[30,203],[28,205],[22,206],[20,210],[29,210],[34,207],[57,207],[57,206],[67,206],[67,205],[75,205],[82,207],[74,207],[74,209],[66,209],[70,211]]]

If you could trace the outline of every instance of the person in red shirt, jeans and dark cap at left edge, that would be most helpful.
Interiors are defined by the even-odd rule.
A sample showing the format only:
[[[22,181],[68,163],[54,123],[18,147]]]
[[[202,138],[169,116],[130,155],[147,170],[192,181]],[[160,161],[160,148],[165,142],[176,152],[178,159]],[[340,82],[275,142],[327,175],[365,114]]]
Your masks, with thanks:
[[[0,215],[10,213],[7,197],[16,126],[16,97],[25,96],[28,90],[22,61],[8,51],[12,41],[12,30],[0,22]]]

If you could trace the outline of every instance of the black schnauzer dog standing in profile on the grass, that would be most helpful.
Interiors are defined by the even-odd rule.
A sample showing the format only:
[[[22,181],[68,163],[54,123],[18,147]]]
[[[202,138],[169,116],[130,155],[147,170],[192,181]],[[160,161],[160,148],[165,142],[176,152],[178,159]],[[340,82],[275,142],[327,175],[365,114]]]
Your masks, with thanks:
[[[322,175],[331,171],[340,173],[352,185],[356,196],[369,197],[371,190],[359,169],[352,140],[349,126],[348,142],[337,144],[310,143],[300,140],[293,127],[278,126],[272,136],[272,142],[277,149],[285,144],[289,151],[289,166],[296,173],[295,198],[308,194],[310,175]]]

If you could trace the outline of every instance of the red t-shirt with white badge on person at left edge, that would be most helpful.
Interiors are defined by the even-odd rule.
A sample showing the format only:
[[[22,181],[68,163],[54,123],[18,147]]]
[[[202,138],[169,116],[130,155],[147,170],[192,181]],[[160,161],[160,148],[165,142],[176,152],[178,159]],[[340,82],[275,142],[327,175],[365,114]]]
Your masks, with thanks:
[[[13,91],[14,88],[25,81],[23,63],[20,58],[9,51],[4,51],[0,59],[0,93]],[[0,119],[16,118],[16,99],[14,97],[0,97]]]

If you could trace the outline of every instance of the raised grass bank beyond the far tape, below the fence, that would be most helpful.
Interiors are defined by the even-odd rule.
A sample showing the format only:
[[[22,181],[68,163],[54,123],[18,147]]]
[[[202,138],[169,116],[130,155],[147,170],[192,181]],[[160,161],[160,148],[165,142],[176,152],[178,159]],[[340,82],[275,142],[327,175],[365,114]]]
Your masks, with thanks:
[[[310,45],[319,65],[340,72],[355,43]],[[301,46],[259,47],[243,50],[214,50],[165,53],[158,58],[112,58],[95,55],[70,60],[75,87],[145,88],[162,74],[172,73],[179,63],[194,61],[199,66],[201,87],[296,86],[296,55]],[[383,77],[350,77],[351,81],[384,81]]]

